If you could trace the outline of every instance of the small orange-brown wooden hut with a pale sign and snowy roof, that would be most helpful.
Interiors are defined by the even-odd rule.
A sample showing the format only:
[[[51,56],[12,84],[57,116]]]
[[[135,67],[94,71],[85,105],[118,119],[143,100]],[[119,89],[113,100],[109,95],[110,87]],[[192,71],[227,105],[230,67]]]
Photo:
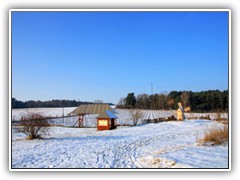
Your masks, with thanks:
[[[97,117],[97,130],[115,129],[117,126],[117,116],[111,111],[105,110]]]

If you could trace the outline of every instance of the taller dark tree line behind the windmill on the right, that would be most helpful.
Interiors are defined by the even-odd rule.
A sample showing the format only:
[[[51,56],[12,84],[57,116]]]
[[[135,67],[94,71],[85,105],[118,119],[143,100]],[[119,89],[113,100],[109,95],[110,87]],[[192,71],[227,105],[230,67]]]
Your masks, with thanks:
[[[138,109],[178,109],[178,102],[183,107],[191,107],[193,112],[227,112],[228,90],[208,90],[201,92],[171,91],[169,94],[138,94],[128,93],[120,98],[118,108]]]

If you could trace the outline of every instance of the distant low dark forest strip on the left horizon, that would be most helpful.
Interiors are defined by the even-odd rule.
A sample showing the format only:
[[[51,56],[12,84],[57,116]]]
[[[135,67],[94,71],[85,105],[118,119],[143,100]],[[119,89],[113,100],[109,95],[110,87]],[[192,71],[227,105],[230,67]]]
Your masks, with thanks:
[[[40,108],[40,107],[77,107],[81,104],[94,104],[94,102],[82,102],[76,100],[51,100],[51,101],[19,101],[12,98],[12,109],[18,108]],[[112,104],[112,103],[106,103]]]

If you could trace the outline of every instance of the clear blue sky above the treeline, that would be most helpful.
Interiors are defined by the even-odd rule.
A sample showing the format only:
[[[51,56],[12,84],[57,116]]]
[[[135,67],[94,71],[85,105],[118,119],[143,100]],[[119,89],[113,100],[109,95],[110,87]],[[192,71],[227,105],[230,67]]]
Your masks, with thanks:
[[[12,12],[12,97],[228,89],[227,12]]]

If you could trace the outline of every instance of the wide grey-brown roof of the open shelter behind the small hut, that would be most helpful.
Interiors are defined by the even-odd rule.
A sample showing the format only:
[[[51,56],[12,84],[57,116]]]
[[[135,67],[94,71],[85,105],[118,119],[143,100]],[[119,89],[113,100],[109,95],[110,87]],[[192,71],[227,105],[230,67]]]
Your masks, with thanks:
[[[117,114],[108,104],[82,104],[69,114],[101,114],[105,110]]]

